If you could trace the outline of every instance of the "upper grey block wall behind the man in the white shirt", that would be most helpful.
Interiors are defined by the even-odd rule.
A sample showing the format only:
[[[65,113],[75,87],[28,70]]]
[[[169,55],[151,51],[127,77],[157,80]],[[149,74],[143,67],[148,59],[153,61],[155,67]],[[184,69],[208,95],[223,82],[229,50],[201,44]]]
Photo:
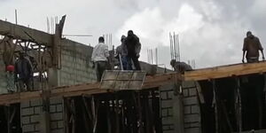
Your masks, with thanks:
[[[96,81],[90,61],[93,48],[71,40],[62,40],[61,69],[58,71],[59,86]]]

